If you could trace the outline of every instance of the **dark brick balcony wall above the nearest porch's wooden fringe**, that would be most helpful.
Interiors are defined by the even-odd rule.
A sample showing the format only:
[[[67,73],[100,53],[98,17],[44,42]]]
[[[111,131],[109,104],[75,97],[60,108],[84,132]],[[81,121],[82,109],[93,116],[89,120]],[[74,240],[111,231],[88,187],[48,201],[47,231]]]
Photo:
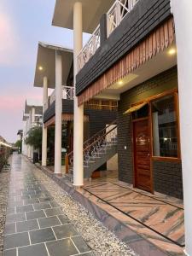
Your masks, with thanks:
[[[155,27],[171,16],[170,0],[140,0],[77,75],[79,96]]]

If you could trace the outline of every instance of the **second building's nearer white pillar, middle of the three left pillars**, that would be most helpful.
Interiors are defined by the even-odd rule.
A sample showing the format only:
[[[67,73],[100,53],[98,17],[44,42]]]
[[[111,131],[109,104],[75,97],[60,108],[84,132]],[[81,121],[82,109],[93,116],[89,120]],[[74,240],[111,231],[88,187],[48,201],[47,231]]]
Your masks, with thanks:
[[[62,114],[62,59],[59,51],[55,51],[55,174],[61,175],[61,114]]]

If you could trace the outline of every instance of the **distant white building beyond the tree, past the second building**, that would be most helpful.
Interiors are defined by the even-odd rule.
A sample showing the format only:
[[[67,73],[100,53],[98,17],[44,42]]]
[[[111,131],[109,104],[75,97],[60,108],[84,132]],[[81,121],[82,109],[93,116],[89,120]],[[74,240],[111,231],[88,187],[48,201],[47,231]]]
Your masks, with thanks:
[[[24,113],[23,113],[23,137],[22,137],[22,154],[26,155],[28,158],[33,159],[32,146],[26,145],[25,140],[33,127],[42,125],[42,114],[43,107],[38,101],[32,99],[26,99]]]

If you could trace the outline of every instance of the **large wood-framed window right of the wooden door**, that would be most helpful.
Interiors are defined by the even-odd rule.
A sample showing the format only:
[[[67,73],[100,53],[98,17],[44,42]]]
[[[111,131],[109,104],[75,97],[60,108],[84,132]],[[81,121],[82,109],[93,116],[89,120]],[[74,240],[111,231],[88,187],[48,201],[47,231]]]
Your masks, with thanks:
[[[156,157],[178,157],[175,96],[164,96],[151,103],[153,153]]]

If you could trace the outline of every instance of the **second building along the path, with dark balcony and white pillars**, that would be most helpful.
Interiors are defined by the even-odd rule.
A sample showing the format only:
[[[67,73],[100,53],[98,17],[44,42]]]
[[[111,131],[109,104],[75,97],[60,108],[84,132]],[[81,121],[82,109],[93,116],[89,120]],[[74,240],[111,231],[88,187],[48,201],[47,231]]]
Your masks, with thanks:
[[[64,154],[73,152],[73,50],[39,42],[34,86],[43,88],[44,95],[42,165],[47,166],[48,129],[55,127],[54,172],[61,175],[61,158]],[[50,95],[49,90],[51,90]],[[102,101],[101,99],[100,102],[92,101],[84,106],[84,148],[88,145],[90,138],[96,139],[98,132],[105,130],[106,125],[110,125],[116,118],[116,101]],[[114,154],[116,154],[115,150],[108,154],[105,160],[103,158],[97,161],[96,165],[91,166],[91,175],[92,172],[98,171],[98,168],[106,171],[105,163]],[[69,161],[72,161],[72,158],[66,160],[66,163]],[[90,172],[90,168],[88,169]],[[67,172],[69,171],[67,167]],[[72,173],[69,174],[72,176]]]

